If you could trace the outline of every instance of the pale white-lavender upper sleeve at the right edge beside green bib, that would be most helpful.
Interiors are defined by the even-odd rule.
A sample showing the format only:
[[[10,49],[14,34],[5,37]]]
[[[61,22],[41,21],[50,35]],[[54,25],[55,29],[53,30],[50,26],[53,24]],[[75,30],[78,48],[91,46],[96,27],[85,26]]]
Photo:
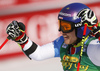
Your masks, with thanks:
[[[98,39],[90,42],[87,48],[87,55],[93,64],[100,66],[100,43]]]

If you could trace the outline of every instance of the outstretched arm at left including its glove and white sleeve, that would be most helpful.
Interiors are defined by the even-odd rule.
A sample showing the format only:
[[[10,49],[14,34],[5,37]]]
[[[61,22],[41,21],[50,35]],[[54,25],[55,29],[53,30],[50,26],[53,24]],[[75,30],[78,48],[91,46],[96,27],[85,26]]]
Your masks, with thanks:
[[[21,46],[23,52],[30,59],[44,60],[55,57],[57,53],[59,55],[58,48],[55,48],[55,42],[39,46],[31,41],[25,34],[25,25],[23,23],[12,21],[8,25],[6,32],[9,35],[10,39],[17,42]]]

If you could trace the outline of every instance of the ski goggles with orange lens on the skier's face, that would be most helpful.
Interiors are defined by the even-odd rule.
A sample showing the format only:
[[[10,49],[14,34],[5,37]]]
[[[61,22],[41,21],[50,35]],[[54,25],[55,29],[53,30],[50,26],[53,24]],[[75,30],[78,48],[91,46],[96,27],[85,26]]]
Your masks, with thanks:
[[[72,32],[73,30],[74,30],[73,22],[59,20],[59,31],[62,31],[63,33],[69,33]]]

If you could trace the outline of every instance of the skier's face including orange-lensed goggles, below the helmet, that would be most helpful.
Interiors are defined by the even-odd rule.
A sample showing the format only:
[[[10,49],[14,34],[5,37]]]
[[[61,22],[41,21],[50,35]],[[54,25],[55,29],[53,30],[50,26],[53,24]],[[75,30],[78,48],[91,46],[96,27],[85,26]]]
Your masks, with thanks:
[[[72,22],[59,20],[59,31],[64,37],[65,44],[74,44],[77,40]]]

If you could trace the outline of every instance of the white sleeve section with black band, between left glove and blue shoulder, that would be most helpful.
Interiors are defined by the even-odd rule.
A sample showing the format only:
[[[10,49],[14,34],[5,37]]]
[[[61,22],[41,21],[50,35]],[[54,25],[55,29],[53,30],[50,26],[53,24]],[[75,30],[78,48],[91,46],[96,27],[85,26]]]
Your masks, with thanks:
[[[23,47],[23,52],[30,58],[30,59],[34,59],[34,60],[44,60],[44,59],[48,59],[48,58],[53,58],[55,55],[54,52],[54,45],[53,43],[48,43],[46,45],[43,46],[35,46],[36,44],[34,44],[30,39],[28,39],[28,43],[21,45],[21,47]],[[36,48],[34,50],[34,48]]]

